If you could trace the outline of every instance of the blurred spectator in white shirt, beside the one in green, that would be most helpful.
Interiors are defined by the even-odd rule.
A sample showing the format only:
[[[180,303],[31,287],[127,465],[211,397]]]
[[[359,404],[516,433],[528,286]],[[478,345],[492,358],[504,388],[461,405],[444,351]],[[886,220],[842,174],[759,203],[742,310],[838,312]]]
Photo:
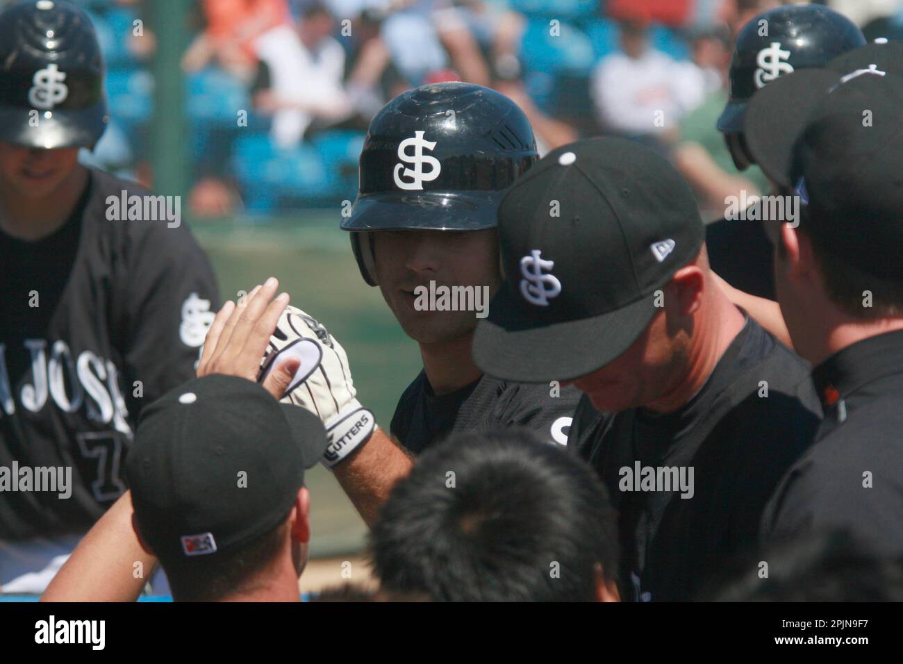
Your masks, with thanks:
[[[656,51],[643,23],[621,23],[620,46],[592,74],[591,97],[601,126],[653,144],[672,140],[677,121],[703,101],[703,70]]]

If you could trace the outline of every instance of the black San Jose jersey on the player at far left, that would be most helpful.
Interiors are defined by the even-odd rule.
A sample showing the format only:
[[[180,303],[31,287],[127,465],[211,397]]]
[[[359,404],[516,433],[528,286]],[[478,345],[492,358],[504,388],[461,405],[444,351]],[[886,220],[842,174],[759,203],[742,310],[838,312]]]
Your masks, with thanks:
[[[89,173],[51,236],[0,231],[0,539],[87,530],[116,500],[141,408],[194,376],[219,307],[191,232],[136,220],[121,205],[150,192]],[[50,467],[71,469],[70,497],[17,491],[14,469]]]

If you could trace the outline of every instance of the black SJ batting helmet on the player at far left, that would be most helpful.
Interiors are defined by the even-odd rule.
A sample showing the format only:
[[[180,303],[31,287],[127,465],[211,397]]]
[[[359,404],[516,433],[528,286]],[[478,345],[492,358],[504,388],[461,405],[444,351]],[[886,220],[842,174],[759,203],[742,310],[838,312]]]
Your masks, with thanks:
[[[88,14],[27,0],[0,14],[0,140],[93,146],[109,121],[104,62]]]

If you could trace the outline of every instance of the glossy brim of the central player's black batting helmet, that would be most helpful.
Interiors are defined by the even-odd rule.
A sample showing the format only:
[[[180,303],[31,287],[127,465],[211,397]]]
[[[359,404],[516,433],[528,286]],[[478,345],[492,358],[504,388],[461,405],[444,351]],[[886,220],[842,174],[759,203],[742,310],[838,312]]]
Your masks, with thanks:
[[[382,192],[358,196],[343,230],[480,230],[498,225],[503,192]]]

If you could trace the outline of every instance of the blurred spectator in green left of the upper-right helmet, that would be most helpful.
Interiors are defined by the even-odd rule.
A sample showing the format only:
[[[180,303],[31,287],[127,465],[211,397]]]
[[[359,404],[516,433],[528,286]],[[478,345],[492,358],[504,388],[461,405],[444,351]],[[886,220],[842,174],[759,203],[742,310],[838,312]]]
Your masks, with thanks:
[[[727,26],[698,33],[694,39],[694,61],[714,73],[718,85],[681,121],[674,151],[675,166],[696,192],[703,220],[720,219],[728,196],[768,191],[768,181],[758,167],[740,174],[715,126],[728,99],[729,40]]]

